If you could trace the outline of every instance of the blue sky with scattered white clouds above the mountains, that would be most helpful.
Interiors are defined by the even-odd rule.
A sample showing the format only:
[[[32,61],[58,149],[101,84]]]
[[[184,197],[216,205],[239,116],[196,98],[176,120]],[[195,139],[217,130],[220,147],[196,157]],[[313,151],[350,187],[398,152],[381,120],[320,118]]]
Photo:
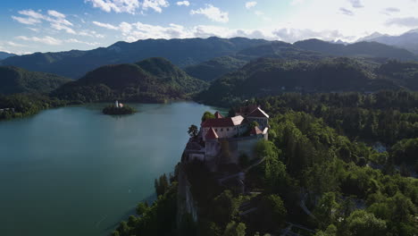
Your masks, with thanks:
[[[418,0],[2,0],[0,51],[88,50],[146,38],[354,42],[418,29]]]

